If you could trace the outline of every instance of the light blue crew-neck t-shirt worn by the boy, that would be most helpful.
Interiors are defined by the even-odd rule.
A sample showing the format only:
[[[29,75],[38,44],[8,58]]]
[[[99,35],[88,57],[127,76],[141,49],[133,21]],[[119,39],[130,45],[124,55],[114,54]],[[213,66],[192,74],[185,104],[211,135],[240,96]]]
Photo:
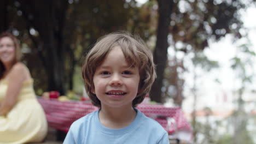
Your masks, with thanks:
[[[127,127],[110,129],[98,118],[98,111],[75,121],[64,144],[169,144],[167,131],[152,118],[137,110],[136,118]]]

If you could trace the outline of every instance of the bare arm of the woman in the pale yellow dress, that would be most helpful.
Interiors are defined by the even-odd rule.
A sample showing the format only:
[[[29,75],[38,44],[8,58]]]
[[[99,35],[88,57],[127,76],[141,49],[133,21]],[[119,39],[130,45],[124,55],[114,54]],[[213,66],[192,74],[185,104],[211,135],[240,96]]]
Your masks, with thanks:
[[[22,63],[16,63],[8,74],[8,88],[0,105],[0,116],[7,114],[16,104],[22,83],[30,77],[30,72]]]

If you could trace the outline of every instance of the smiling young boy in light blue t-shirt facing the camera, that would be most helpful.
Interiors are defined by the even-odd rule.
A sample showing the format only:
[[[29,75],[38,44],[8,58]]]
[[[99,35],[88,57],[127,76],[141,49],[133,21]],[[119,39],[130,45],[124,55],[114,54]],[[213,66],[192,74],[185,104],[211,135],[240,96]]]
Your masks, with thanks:
[[[141,39],[105,35],[82,69],[86,91],[100,110],[75,121],[64,143],[169,143],[164,128],[135,108],[155,79],[152,53]]]

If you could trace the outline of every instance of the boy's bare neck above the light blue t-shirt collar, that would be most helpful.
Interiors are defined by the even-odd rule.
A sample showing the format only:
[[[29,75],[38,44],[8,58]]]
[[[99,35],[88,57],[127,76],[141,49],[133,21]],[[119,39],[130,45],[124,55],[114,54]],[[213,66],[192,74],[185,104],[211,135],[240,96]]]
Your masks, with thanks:
[[[136,117],[136,111],[133,107],[116,108],[101,107],[98,118],[104,127],[120,129],[128,126]]]

